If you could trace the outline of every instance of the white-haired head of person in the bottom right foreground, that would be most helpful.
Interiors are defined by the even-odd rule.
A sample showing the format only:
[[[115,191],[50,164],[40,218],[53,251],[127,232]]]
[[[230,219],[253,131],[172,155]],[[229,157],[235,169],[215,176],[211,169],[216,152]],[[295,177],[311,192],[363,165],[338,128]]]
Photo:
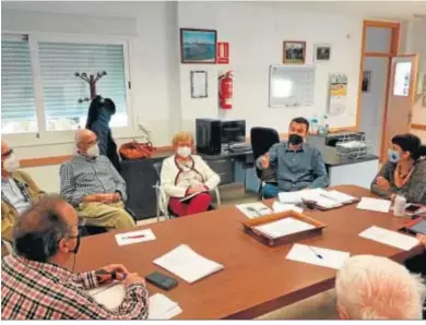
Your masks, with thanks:
[[[379,256],[358,255],[338,272],[338,312],[344,320],[422,320],[425,286],[418,275]]]

